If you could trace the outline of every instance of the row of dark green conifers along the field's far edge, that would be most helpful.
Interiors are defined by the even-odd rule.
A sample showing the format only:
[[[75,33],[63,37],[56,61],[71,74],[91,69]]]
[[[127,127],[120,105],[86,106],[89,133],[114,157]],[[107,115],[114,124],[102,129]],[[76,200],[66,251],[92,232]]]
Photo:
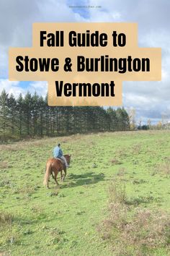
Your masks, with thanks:
[[[5,90],[0,95],[0,140],[52,137],[76,133],[126,131],[130,119],[125,108],[100,106],[48,106],[47,97]]]

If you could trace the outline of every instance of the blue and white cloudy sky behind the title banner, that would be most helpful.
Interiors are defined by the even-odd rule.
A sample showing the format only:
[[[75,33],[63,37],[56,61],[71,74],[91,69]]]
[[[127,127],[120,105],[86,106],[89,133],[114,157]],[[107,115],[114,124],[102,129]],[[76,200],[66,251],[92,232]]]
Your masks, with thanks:
[[[33,22],[137,22],[138,46],[162,48],[162,80],[123,82],[123,106],[143,122],[170,119],[169,9],[169,0],[0,0],[0,92],[47,92],[47,82],[8,80],[9,47],[32,46]]]

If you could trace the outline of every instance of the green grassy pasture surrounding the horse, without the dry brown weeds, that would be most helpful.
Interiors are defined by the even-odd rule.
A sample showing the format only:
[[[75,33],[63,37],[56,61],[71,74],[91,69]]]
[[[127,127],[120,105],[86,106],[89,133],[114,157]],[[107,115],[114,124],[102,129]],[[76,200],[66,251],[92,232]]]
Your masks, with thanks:
[[[46,189],[42,186],[45,163],[57,142],[64,153],[71,153],[71,167],[64,183],[58,177],[59,188],[50,179]],[[2,255],[169,255],[164,244],[138,254],[134,244],[129,254],[118,253],[114,239],[104,239],[99,226],[110,217],[109,197],[114,193],[110,181],[125,186],[130,214],[140,208],[168,215],[170,131],[0,145],[0,160]]]

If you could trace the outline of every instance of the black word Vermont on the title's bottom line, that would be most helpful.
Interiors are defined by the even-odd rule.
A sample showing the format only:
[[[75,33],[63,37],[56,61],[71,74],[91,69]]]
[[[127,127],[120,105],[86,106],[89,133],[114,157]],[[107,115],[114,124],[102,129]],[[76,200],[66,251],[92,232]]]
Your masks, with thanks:
[[[57,97],[61,97],[63,95],[66,97],[115,97],[114,87],[114,81],[110,81],[109,84],[107,82],[102,82],[101,84],[95,82],[92,85],[89,82],[73,82],[73,84],[66,82],[64,84],[63,81],[55,81]]]

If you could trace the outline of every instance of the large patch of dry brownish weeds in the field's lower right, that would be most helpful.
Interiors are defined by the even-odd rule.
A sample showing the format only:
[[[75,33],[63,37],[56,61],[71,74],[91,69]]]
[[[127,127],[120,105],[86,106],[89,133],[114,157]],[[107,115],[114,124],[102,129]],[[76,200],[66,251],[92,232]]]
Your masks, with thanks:
[[[109,185],[109,215],[98,226],[114,255],[155,255],[170,246],[170,217],[163,211],[134,208],[127,204],[125,185]]]

